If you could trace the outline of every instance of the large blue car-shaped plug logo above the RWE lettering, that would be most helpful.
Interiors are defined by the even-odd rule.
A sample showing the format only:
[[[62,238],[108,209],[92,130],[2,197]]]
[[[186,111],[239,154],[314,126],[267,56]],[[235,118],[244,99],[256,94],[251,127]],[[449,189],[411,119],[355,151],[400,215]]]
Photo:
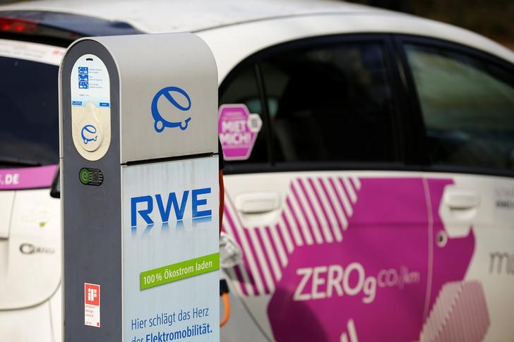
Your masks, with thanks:
[[[177,100],[173,97],[173,93],[181,94],[184,99],[186,99],[187,104],[183,106],[182,104],[179,104]],[[183,89],[179,87],[165,87],[162,88],[155,94],[152,100],[152,116],[154,121],[154,128],[157,133],[161,133],[165,128],[174,128],[179,127],[181,130],[186,130],[189,124],[189,121],[191,121],[191,116],[188,118],[181,120],[181,121],[168,121],[165,118],[162,117],[162,114],[159,113],[159,109],[157,108],[157,102],[159,102],[159,99],[164,97],[167,99],[167,102],[172,104],[176,109],[179,109],[179,111],[189,111],[191,109],[191,98],[185,92]],[[168,118],[168,116],[165,116]]]

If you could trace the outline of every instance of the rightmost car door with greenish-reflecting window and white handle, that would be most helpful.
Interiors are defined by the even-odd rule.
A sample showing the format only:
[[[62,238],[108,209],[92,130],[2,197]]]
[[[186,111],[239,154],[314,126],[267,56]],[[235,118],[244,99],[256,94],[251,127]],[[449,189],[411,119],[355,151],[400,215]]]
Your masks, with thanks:
[[[424,336],[507,341],[514,336],[514,305],[506,300],[514,291],[513,65],[434,39],[397,42],[431,171]],[[458,329],[463,323],[474,329]]]

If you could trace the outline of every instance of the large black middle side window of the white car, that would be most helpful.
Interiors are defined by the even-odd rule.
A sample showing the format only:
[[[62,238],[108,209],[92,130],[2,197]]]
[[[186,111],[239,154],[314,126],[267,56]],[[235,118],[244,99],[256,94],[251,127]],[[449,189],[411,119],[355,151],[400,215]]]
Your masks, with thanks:
[[[260,65],[277,162],[395,159],[392,92],[381,44],[289,49]]]

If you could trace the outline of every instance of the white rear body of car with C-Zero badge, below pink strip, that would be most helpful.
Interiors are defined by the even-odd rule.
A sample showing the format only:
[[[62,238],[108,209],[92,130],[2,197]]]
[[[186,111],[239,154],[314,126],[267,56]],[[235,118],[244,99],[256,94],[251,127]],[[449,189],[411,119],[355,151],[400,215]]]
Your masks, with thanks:
[[[12,194],[10,235],[0,239],[0,331],[5,341],[60,341],[61,224],[48,189]],[[4,218],[4,216],[2,216]],[[24,247],[22,247],[24,246]],[[20,252],[24,248],[25,253]],[[29,326],[27,323],[30,322]],[[24,329],[20,329],[25,326]]]

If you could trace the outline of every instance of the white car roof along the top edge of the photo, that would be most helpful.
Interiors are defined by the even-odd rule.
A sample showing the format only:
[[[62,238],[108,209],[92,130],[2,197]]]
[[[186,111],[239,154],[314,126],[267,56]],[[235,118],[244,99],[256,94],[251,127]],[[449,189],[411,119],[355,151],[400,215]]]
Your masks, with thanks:
[[[54,11],[122,21],[147,33],[196,32],[270,18],[321,13],[400,13],[335,0],[49,0],[0,6],[0,11]]]

